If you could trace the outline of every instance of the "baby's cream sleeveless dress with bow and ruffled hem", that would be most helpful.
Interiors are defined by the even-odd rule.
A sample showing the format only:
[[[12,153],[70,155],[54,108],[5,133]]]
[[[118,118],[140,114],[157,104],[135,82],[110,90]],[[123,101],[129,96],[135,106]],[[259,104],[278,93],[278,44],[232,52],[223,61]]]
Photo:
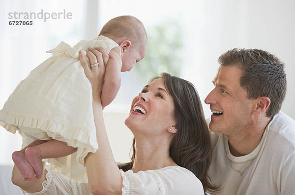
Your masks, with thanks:
[[[84,158],[98,149],[92,113],[91,84],[78,52],[88,47],[112,48],[118,44],[105,36],[83,40],[74,47],[60,42],[48,51],[53,56],[21,81],[0,110],[0,125],[23,136],[22,147],[35,139],[56,139],[78,148],[72,155],[46,159],[52,171],[67,180],[87,183]]]

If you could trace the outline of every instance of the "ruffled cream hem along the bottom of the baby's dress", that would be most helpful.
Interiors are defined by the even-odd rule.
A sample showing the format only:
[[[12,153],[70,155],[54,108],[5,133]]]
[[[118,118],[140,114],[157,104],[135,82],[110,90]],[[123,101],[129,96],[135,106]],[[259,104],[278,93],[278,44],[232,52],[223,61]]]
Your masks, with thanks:
[[[73,131],[68,131],[67,129],[73,130],[72,127],[68,127],[67,125],[51,121],[49,119],[29,118],[12,114],[6,110],[0,110],[0,126],[12,133],[20,130],[18,126],[42,130],[49,137],[52,137],[52,139],[66,142],[68,146],[78,148],[76,160],[83,165],[85,165],[84,158],[87,156],[87,154],[89,152],[95,153],[98,149],[96,136],[91,137],[90,133],[87,132],[85,129],[76,128],[76,130],[74,130],[74,133],[69,133]]]

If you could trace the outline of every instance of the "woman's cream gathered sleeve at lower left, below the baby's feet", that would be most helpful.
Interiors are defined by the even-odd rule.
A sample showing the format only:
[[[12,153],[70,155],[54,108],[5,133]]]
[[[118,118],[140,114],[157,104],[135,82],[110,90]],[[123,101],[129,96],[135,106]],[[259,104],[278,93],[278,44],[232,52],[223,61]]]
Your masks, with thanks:
[[[24,195],[90,195],[88,184],[69,182],[59,174],[51,172],[48,167],[45,168],[47,174],[42,183],[42,191],[30,194],[23,190]]]

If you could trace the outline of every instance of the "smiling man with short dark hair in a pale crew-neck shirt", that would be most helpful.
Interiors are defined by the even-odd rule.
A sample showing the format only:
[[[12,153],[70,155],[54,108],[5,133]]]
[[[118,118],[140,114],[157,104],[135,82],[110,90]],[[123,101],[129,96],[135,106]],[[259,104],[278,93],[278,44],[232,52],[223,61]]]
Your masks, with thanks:
[[[258,49],[219,57],[212,111],[209,177],[224,195],[295,195],[295,121],[280,111],[284,64]]]

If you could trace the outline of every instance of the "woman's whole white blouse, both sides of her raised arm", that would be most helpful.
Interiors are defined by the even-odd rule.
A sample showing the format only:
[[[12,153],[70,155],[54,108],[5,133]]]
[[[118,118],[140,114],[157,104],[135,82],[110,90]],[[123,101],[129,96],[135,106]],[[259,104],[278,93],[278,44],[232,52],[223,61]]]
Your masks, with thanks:
[[[88,184],[69,182],[48,168],[43,189],[32,195],[90,195]],[[123,172],[122,195],[204,195],[201,181],[188,169],[167,166],[157,170]],[[24,191],[25,195],[29,193]]]

